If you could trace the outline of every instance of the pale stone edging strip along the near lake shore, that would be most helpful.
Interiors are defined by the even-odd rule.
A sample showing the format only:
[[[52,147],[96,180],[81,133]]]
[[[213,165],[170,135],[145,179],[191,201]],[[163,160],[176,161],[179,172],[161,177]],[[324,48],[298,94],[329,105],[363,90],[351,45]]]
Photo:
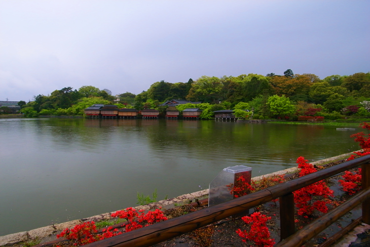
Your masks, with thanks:
[[[317,161],[317,162],[312,162],[312,164],[313,165],[323,165],[323,164],[328,164],[328,163],[331,163],[331,162],[334,162],[334,161],[340,161],[340,160],[348,158],[351,154],[352,153],[343,154],[343,155],[332,157],[332,158],[329,158],[329,159],[325,159],[325,160],[321,160],[321,161]],[[273,172],[273,173],[270,173],[270,174],[266,174],[266,175],[262,175],[262,176],[258,176],[258,177],[253,177],[252,180],[257,180],[258,181],[262,177],[295,173],[297,171],[297,169],[298,169],[297,167],[292,167],[292,168],[288,168],[288,169],[285,169],[285,170]],[[135,208],[144,209],[144,210],[149,210],[151,208],[156,208],[156,207],[159,207],[159,206],[161,206],[162,208],[171,208],[171,207],[174,207],[175,205],[184,205],[186,203],[194,202],[195,200],[201,200],[201,199],[204,199],[204,198],[207,198],[207,197],[208,197],[208,189],[202,190],[202,191],[197,191],[197,192],[194,192],[194,193],[185,194],[185,195],[182,195],[182,196],[179,196],[179,197],[176,197],[176,198],[172,198],[172,199],[162,200],[162,201],[159,201],[157,203],[151,203],[151,204],[148,204],[148,205],[137,206]],[[121,208],[118,208],[117,210],[119,210],[119,209],[121,209]],[[85,222],[85,221],[98,222],[98,221],[102,221],[102,220],[109,220],[109,219],[111,219],[111,216],[110,216],[111,213],[112,212],[103,213],[103,214],[91,216],[91,217],[88,217],[88,218],[77,219],[77,220],[72,220],[72,221],[68,221],[68,222],[65,222],[65,223],[60,223],[60,224],[41,227],[41,228],[37,228],[37,229],[31,230],[31,231],[19,232],[19,233],[9,234],[9,235],[5,235],[5,236],[0,236],[0,246],[15,245],[17,243],[24,242],[24,241],[29,241],[29,240],[32,240],[32,239],[39,239],[39,240],[41,240],[41,243],[50,242],[50,241],[56,239],[56,234],[58,234],[59,232],[61,232],[62,230],[64,230],[67,227],[68,228],[73,228],[74,225],[80,224],[81,222]]]

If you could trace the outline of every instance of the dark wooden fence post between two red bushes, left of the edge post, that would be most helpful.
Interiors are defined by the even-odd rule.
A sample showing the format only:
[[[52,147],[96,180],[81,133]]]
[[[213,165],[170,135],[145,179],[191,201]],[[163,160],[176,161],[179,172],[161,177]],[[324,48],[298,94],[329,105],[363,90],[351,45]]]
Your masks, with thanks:
[[[280,241],[296,232],[294,222],[294,194],[289,193],[279,198],[280,202]]]

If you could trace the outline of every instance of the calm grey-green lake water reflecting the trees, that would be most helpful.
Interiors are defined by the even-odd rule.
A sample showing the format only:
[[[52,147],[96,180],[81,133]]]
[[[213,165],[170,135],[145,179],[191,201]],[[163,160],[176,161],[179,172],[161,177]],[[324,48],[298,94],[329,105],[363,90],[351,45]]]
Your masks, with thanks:
[[[358,150],[335,126],[181,120],[0,119],[0,236]]]

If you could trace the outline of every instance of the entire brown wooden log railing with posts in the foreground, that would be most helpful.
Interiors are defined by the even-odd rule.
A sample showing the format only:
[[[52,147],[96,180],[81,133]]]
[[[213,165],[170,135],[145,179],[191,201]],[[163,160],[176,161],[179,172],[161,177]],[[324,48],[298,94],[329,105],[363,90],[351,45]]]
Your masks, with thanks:
[[[312,183],[361,165],[362,191],[319,219],[295,232],[293,192]],[[88,247],[148,247],[180,236],[226,217],[243,213],[250,208],[280,200],[281,242],[277,247],[299,247],[330,226],[355,206],[362,204],[362,221],[370,224],[370,156],[364,156],[339,165],[299,177],[232,201],[211,206],[177,218],[156,223],[135,231],[87,245]]]

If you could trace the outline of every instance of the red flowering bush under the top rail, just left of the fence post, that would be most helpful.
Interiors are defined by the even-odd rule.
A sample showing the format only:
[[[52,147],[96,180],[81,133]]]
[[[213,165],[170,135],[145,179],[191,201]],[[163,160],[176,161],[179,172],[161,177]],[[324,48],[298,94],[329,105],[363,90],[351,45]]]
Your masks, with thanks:
[[[254,212],[251,216],[244,216],[242,220],[251,224],[250,231],[242,231],[240,229],[236,230],[236,233],[239,237],[243,238],[243,242],[246,243],[247,240],[252,242],[251,246],[260,246],[260,247],[272,247],[275,242],[274,239],[270,239],[270,232],[266,227],[266,221],[270,220],[271,217],[267,217],[260,212]]]

